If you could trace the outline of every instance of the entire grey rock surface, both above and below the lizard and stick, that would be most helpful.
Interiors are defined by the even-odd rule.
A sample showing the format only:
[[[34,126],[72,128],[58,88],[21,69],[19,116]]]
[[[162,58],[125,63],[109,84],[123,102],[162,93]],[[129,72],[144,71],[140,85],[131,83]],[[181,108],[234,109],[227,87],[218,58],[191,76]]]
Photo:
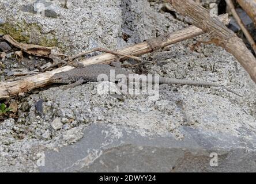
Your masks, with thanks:
[[[161,11],[160,1],[68,0],[68,9],[50,2],[59,7],[57,18],[21,10],[33,1],[10,0],[0,0],[0,17],[36,23],[39,37],[51,33],[66,53],[119,48],[186,26]],[[218,87],[179,85],[160,85],[156,101],[99,94],[97,82],[42,89],[20,102],[17,120],[0,122],[0,171],[255,171],[256,86],[222,48],[191,51],[202,39],[145,55],[147,63],[134,72],[217,81],[243,98]],[[43,113],[35,107],[40,99]],[[52,128],[57,118],[61,129]],[[217,167],[210,164],[214,152]]]

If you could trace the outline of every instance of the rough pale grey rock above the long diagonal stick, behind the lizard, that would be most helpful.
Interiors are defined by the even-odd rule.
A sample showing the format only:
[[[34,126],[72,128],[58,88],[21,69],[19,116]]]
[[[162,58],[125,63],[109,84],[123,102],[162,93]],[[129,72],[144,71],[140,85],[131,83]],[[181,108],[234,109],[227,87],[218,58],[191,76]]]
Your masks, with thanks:
[[[24,21],[27,24],[35,24],[40,26],[40,33],[35,33],[35,37],[46,36],[50,41],[52,39],[58,40],[58,47],[61,47],[63,51],[68,55],[79,53],[88,50],[89,47],[94,47],[93,39],[97,46],[108,49],[116,49],[123,47],[127,44],[126,41],[118,41],[122,39],[122,34],[127,33],[132,37],[127,40],[129,44],[133,44],[134,41],[143,41],[149,37],[155,37],[156,32],[164,33],[163,25],[168,26],[170,31],[182,26],[182,22],[177,22],[176,25],[171,24],[170,20],[174,20],[171,15],[160,14],[156,10],[152,11],[148,1],[127,1],[129,4],[126,7],[126,1],[110,0],[110,1],[75,1],[69,0],[69,9],[61,7],[61,1],[45,1],[51,3],[48,7],[46,4],[46,17],[35,16],[35,3],[39,1],[32,1],[32,3],[14,2],[12,0],[0,0],[0,3],[8,3],[4,13],[0,16],[3,19],[13,17],[13,20],[9,20],[10,24],[18,26],[24,26]],[[40,3],[44,3],[41,1]],[[145,4],[149,10],[146,10],[142,4]],[[133,6],[134,4],[134,6]],[[63,5],[63,3],[62,3]],[[118,6],[116,6],[118,5]],[[136,8],[134,8],[136,7]],[[56,14],[51,15],[47,10],[53,10]],[[133,9],[132,11],[130,11]],[[13,12],[19,12],[13,14]],[[29,13],[27,13],[29,12]],[[134,12],[130,14],[130,12]],[[149,12],[153,12],[150,14]],[[39,12],[40,14],[40,12]],[[145,16],[141,16],[145,14]],[[47,16],[55,18],[47,18]],[[157,17],[152,19],[152,17]],[[168,17],[168,18],[165,18]],[[161,24],[156,19],[161,19]],[[138,24],[136,21],[139,21]],[[129,25],[127,25],[129,24]],[[126,26],[127,25],[127,26]],[[145,26],[148,27],[146,32]],[[133,34],[133,32],[136,32]],[[24,33],[26,36],[33,35],[33,30],[26,30]],[[91,39],[91,40],[90,40]],[[31,39],[33,44],[37,43],[37,40]],[[122,44],[122,45],[121,45]]]

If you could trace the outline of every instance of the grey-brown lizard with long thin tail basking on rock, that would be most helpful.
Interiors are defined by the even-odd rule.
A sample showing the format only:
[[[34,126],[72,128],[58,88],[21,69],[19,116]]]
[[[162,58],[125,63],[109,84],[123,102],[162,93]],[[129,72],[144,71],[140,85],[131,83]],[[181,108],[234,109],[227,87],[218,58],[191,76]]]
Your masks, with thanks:
[[[69,71],[59,72],[51,76],[48,82],[50,83],[63,83],[68,84],[64,87],[64,89],[68,89],[70,87],[75,87],[81,85],[84,82],[97,82],[97,77],[100,74],[106,74],[108,79],[110,79],[110,71],[115,71],[115,76],[119,74],[125,75],[127,78],[130,74],[135,75],[135,78],[140,79],[141,75],[135,74],[133,72],[127,71],[121,67],[114,67],[107,64],[92,64],[90,66],[85,67],[77,67],[73,68]],[[118,81],[118,79],[115,79]],[[155,82],[155,79],[152,78],[151,81],[145,82]],[[157,81],[158,82],[158,81]],[[159,84],[175,84],[175,85],[196,85],[196,86],[215,86],[222,87],[223,89],[242,97],[242,95],[236,93],[235,91],[228,89],[227,87],[220,85],[217,82],[206,82],[206,81],[189,81],[186,79],[176,79],[176,78],[164,78],[159,77]]]

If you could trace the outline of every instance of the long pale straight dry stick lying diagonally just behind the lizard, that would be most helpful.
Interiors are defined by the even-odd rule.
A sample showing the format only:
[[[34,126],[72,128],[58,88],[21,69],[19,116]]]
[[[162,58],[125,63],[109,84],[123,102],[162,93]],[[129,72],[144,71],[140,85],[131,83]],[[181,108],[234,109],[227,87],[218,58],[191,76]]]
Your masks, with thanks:
[[[224,22],[224,24],[229,23],[227,14],[220,16],[219,18],[221,21]],[[203,33],[204,31],[202,31],[202,29],[199,29],[195,26],[189,26],[185,29],[178,30],[173,33],[168,33],[164,36],[160,36],[155,39],[144,41],[143,43],[139,43],[139,44],[131,45],[130,47],[119,49],[116,52],[122,53],[122,55],[139,56],[145,53],[153,52],[156,49],[163,48],[167,45],[171,45],[179,41],[191,39]],[[100,64],[100,63],[109,64],[115,61],[115,58],[116,56],[112,55],[111,53],[103,53],[101,55],[84,59],[81,61],[81,63],[84,64],[84,66],[88,66],[90,64]],[[120,59],[124,60],[124,59],[127,59],[127,57],[121,56]],[[51,78],[52,75],[62,71],[69,71],[72,68],[73,67],[71,66],[65,66],[65,67],[58,68],[56,70],[18,79],[17,81],[2,82],[0,84],[0,99],[9,98],[17,94],[24,94],[37,87],[45,86],[47,85],[48,80]]]

